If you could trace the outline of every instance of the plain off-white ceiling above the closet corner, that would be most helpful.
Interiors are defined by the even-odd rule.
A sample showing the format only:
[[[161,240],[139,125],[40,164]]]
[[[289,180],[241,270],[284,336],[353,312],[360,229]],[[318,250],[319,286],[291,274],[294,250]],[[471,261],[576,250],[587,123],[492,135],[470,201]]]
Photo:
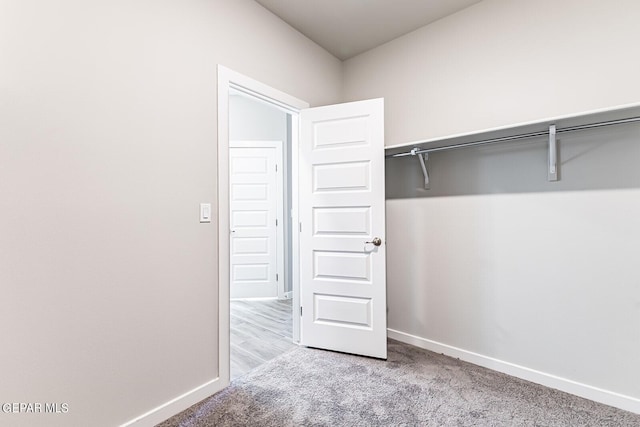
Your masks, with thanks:
[[[256,1],[344,60],[481,0]]]

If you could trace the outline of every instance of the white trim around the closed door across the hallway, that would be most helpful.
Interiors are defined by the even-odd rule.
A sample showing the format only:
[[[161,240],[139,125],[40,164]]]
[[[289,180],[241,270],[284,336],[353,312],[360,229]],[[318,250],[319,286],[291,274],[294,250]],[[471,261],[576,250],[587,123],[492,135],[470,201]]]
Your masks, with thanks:
[[[276,176],[276,220],[278,225],[276,228],[276,265],[275,273],[277,273],[277,294],[279,299],[284,298],[285,293],[285,239],[287,221],[284,220],[284,180],[286,178],[286,169],[283,167],[283,145],[286,141],[267,141],[267,140],[233,140],[229,141],[230,148],[272,148],[276,153],[276,165],[280,165],[279,174]],[[279,178],[278,178],[279,177]],[[231,189],[229,189],[231,191]]]

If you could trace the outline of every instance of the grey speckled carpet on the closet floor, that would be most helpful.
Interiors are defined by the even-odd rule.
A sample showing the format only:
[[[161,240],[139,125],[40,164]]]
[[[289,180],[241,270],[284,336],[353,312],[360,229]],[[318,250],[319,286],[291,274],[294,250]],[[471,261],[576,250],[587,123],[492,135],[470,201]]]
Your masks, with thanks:
[[[397,341],[388,356],[295,348],[160,426],[640,426],[640,415]]]

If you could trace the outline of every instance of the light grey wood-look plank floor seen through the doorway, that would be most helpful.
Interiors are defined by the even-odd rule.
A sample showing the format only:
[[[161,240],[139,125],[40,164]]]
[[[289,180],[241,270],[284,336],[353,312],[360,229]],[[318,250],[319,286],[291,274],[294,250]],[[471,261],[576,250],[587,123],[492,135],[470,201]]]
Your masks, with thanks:
[[[291,300],[231,301],[231,379],[295,347]]]

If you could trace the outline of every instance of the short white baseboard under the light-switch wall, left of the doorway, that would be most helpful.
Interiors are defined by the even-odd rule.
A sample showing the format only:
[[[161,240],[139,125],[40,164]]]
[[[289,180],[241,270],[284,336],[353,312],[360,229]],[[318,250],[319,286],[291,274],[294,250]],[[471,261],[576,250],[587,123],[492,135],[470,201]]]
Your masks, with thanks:
[[[222,383],[220,378],[211,380],[199,387],[194,388],[181,396],[178,396],[170,401],[163,403],[150,410],[149,412],[134,418],[131,421],[127,421],[120,427],[152,427],[162,421],[171,418],[172,416],[179,414],[188,407],[200,402],[203,399],[222,390]]]

